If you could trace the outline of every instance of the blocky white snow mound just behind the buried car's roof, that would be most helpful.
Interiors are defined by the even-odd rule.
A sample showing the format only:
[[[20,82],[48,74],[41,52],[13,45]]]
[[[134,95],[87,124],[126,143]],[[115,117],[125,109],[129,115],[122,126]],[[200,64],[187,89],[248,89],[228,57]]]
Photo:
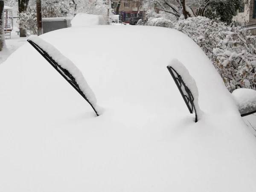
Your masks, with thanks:
[[[102,15],[91,15],[87,13],[78,13],[73,20],[71,20],[72,27],[81,26],[94,26],[94,25],[105,25],[105,20]]]

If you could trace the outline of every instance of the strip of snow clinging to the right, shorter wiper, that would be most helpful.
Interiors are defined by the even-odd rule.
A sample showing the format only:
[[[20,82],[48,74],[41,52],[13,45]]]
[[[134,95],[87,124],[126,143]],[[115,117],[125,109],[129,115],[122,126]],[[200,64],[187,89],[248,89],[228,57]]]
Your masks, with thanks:
[[[189,90],[192,93],[192,96],[194,98],[194,105],[195,110],[198,115],[198,120],[201,118],[202,111],[198,105],[198,87],[196,85],[195,79],[189,74],[189,71],[186,69],[186,67],[177,59],[172,59],[169,66],[173,67],[175,71],[181,76],[186,86],[189,88]],[[184,87],[182,86],[184,89]],[[185,90],[183,90],[185,92]]]

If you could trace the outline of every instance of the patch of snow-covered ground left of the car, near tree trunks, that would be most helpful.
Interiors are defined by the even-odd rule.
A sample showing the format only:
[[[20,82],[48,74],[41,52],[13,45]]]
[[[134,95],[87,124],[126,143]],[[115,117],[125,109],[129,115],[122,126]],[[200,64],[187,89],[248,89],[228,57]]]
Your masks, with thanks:
[[[27,40],[27,37],[20,38],[20,35],[17,35],[15,29],[12,30],[11,38],[6,36],[6,49],[0,52],[0,64],[3,63],[9,55],[11,55],[16,49],[21,47]]]

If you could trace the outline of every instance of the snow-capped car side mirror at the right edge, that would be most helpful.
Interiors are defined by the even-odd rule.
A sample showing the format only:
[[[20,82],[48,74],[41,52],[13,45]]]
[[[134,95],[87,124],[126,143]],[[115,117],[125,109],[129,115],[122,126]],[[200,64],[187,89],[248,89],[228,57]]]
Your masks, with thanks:
[[[256,90],[240,88],[232,93],[241,116],[256,113]]]

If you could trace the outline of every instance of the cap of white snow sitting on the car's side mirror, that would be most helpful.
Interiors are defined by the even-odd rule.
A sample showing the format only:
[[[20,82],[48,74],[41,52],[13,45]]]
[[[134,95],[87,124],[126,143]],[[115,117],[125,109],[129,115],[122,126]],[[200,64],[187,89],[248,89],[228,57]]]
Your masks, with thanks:
[[[240,88],[232,92],[239,109],[256,108],[256,90]]]

